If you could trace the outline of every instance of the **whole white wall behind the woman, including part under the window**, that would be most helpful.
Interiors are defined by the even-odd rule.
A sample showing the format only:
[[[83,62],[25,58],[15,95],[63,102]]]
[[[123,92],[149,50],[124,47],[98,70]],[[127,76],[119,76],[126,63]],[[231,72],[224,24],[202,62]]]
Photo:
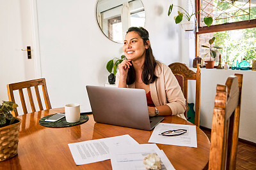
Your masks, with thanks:
[[[174,14],[168,17],[170,2],[142,2],[146,11],[145,28],[150,33],[156,59],[165,64],[189,65],[189,58],[195,57],[195,43],[193,39],[184,38],[180,24],[176,25],[173,20]],[[173,3],[186,6],[180,1]],[[110,41],[100,31],[95,17],[96,4],[96,0],[37,0],[42,76],[46,78],[53,108],[67,103],[89,106],[85,85],[107,83],[106,63],[122,55],[122,45]],[[239,138],[256,143],[255,92],[252,92],[256,85],[252,80],[255,73],[243,71]],[[233,71],[202,69],[201,125],[211,128],[216,84],[224,84],[230,74],[234,74]],[[193,85],[189,88],[195,90]]]

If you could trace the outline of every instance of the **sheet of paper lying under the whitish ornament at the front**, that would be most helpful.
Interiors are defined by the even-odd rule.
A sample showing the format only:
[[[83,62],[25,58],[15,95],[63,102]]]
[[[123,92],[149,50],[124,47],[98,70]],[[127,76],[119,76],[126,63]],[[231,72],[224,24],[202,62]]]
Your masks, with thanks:
[[[113,170],[145,170],[143,159],[149,153],[156,153],[161,158],[161,169],[174,169],[163,150],[156,144],[134,145],[132,147],[118,146],[109,148],[111,153],[111,166]]]

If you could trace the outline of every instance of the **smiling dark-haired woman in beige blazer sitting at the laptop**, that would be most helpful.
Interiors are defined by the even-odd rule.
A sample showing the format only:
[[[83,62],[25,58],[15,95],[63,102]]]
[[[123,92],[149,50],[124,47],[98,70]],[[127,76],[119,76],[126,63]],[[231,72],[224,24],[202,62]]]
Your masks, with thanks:
[[[129,28],[123,50],[127,60],[118,65],[118,87],[144,89],[150,117],[177,115],[185,118],[186,99],[171,69],[156,61],[148,31],[143,27]]]

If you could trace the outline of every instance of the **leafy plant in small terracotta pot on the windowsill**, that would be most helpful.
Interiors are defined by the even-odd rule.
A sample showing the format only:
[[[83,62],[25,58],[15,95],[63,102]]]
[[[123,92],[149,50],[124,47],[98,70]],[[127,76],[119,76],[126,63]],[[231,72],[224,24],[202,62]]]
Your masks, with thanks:
[[[205,67],[207,69],[213,69],[214,68],[214,63],[215,63],[214,59],[215,59],[215,57],[217,55],[217,52],[218,52],[218,50],[216,50],[216,49],[222,49],[220,46],[212,46],[212,44],[214,43],[215,39],[216,39],[215,37],[212,37],[211,39],[209,39],[209,45],[210,46],[202,45],[202,47],[209,48],[209,50],[210,50],[210,52],[209,52],[210,53],[210,60],[205,61]],[[215,50],[212,50],[212,48],[215,48]],[[204,57],[206,55],[208,55],[208,53],[206,53],[204,55]],[[214,58],[214,59],[211,60],[211,57]]]

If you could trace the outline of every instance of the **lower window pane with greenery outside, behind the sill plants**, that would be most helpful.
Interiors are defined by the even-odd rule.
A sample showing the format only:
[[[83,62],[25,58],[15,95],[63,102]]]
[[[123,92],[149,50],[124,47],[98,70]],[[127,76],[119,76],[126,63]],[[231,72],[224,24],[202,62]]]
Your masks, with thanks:
[[[256,28],[251,29],[238,29],[232,31],[212,32],[199,35],[199,55],[202,59],[209,59],[209,49],[202,47],[202,45],[209,46],[209,39],[213,36],[216,37],[214,46],[220,46],[222,64],[228,62],[229,66],[232,60],[241,62],[246,59],[252,67],[252,60],[256,59]],[[205,55],[207,54],[207,55]],[[205,56],[204,56],[205,55]],[[215,65],[218,66],[218,56],[215,60]]]

